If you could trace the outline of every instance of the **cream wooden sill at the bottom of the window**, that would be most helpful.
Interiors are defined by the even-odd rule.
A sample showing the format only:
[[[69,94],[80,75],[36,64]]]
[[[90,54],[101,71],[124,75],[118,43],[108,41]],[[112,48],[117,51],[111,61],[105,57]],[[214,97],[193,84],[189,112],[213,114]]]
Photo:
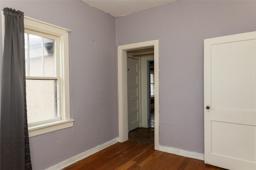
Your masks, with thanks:
[[[56,121],[52,123],[45,123],[42,125],[36,125],[32,127],[28,127],[28,136],[36,136],[48,132],[52,132],[55,130],[60,130],[63,128],[73,127],[74,119],[70,119],[68,121]]]

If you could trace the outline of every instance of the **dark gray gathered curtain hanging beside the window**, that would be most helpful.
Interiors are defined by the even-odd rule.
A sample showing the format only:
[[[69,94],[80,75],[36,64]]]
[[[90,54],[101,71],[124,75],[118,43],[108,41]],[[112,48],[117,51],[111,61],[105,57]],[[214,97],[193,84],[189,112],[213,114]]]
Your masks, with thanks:
[[[4,8],[0,169],[32,170],[26,109],[24,14]]]

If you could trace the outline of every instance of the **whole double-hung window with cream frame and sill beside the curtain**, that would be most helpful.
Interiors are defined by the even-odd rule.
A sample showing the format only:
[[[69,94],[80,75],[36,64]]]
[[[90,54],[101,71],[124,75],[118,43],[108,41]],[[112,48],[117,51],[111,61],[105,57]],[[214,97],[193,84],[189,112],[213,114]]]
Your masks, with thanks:
[[[24,18],[29,136],[72,127],[69,103],[68,32]]]

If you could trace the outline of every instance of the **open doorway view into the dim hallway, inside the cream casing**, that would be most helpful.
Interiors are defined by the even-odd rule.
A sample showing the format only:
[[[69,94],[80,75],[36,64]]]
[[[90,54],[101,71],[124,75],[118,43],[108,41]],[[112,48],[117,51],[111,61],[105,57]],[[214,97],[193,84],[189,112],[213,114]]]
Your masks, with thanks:
[[[128,138],[154,145],[154,47],[127,51],[127,57]],[[134,63],[139,63],[139,76]]]

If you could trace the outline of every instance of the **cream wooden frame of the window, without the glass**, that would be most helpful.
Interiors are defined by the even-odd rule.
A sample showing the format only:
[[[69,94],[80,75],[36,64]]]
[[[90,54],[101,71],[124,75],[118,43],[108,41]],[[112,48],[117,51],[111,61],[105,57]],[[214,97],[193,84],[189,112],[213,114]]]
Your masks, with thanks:
[[[65,28],[54,26],[46,22],[41,22],[29,17],[24,17],[24,28],[34,32],[50,34],[57,36],[59,62],[56,66],[60,71],[58,75],[59,95],[60,95],[60,120],[53,122],[42,122],[42,124],[28,124],[29,137],[60,130],[63,128],[73,127],[74,119],[70,119],[70,96],[69,96],[69,58],[68,58],[68,33],[71,32]],[[57,70],[57,71],[58,71]],[[26,77],[26,79],[56,79],[56,77]]]

